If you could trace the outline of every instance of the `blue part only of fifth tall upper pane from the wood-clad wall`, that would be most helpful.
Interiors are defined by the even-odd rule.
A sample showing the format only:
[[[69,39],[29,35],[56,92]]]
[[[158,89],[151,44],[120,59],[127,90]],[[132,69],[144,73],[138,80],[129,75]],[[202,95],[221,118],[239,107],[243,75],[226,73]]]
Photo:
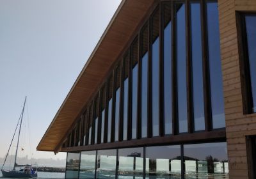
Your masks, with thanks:
[[[152,123],[153,136],[159,136],[159,38],[152,44]]]

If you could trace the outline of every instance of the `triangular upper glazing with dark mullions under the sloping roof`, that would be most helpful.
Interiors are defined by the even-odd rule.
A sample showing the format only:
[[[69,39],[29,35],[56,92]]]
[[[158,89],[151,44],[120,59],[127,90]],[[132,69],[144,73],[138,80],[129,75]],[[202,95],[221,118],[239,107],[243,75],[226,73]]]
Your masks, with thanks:
[[[214,45],[209,44],[212,36],[219,35],[216,17],[218,19],[216,1],[157,4],[91,104],[86,105],[85,143],[79,137],[83,136],[80,134],[83,130],[79,129],[83,117],[80,117],[76,127],[70,130],[70,135],[76,137],[71,137],[70,146],[63,146],[116,143],[225,128],[221,72],[216,75],[218,79],[211,74],[212,69],[221,69],[220,40],[215,38]],[[214,34],[208,29],[211,20],[217,27]],[[214,56],[212,49],[218,49]],[[210,61],[212,58],[218,63]],[[221,82],[216,87],[221,93],[214,93],[216,88],[212,86],[216,81]],[[218,109],[216,101],[220,104]],[[73,143],[73,138],[80,141]]]

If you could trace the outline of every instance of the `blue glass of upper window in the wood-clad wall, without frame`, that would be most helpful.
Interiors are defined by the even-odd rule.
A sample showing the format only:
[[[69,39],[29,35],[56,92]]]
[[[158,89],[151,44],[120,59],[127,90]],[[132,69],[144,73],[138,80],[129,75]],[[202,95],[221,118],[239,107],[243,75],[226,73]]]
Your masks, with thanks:
[[[246,33],[248,45],[248,58],[250,65],[251,86],[252,86],[252,104],[253,113],[256,113],[256,16],[246,15]]]

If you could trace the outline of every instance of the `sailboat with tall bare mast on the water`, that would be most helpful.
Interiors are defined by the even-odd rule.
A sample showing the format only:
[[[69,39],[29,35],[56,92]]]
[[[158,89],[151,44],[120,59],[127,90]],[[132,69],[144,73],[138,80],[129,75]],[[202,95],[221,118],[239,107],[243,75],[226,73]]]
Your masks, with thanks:
[[[15,128],[15,132],[14,132],[13,137],[12,137],[12,142],[9,146],[8,152],[7,152],[6,157],[4,159],[4,164],[5,164],[6,159],[8,157],[8,154],[10,152],[10,148],[11,148],[12,143],[13,143],[13,138],[14,138],[15,133],[17,131],[17,128],[19,126],[19,135],[18,135],[18,141],[17,141],[17,146],[16,146],[16,152],[15,152],[14,166],[13,166],[12,170],[7,171],[7,170],[3,169],[4,168],[4,164],[3,164],[2,168],[1,168],[1,172],[2,172],[4,177],[10,177],[10,178],[36,178],[37,177],[36,167],[33,167],[32,165],[19,165],[19,164],[17,164],[17,153],[18,153],[18,148],[19,148],[20,129],[21,129],[21,125],[22,125],[22,119],[23,119],[24,109],[25,109],[25,105],[26,105],[26,99],[27,99],[27,97],[24,100],[24,105],[23,105],[23,108],[22,108],[22,112],[20,114],[19,121],[17,123],[17,126]],[[24,168],[16,170],[15,167],[24,167]]]

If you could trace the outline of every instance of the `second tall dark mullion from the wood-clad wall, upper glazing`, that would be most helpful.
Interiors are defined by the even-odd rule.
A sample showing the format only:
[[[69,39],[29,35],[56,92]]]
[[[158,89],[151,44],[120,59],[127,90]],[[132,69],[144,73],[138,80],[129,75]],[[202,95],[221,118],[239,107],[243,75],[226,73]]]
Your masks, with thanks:
[[[188,132],[192,133],[193,124],[193,88],[192,88],[192,63],[191,63],[191,18],[189,0],[186,0],[186,59],[187,59],[187,102],[188,102]]]

